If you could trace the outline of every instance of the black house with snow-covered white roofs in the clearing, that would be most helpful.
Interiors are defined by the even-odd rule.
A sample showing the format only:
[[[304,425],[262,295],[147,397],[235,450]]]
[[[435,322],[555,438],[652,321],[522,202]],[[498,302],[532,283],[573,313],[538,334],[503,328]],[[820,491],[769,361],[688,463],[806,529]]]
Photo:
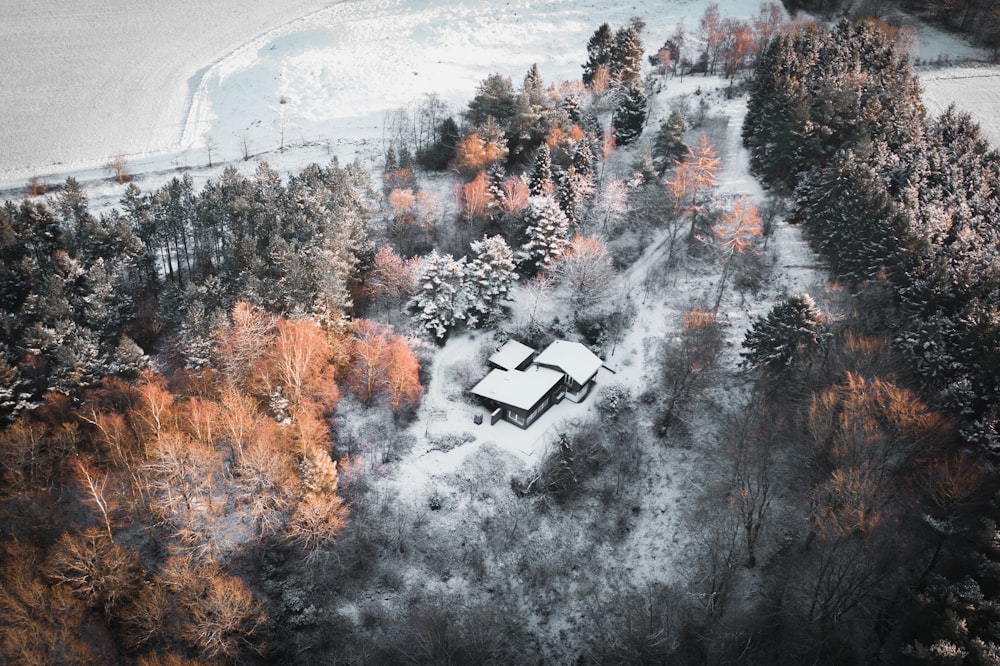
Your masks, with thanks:
[[[535,357],[534,349],[511,340],[489,364],[493,369],[471,393],[493,411],[492,423],[503,418],[527,428],[564,397],[586,398],[604,362],[578,342],[557,340]]]

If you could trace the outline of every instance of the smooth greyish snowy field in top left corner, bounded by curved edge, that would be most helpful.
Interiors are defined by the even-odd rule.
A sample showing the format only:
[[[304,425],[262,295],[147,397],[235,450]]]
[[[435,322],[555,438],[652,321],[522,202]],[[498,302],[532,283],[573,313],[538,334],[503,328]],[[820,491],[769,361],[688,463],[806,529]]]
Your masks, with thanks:
[[[0,181],[174,149],[201,73],[330,0],[5,0]]]

